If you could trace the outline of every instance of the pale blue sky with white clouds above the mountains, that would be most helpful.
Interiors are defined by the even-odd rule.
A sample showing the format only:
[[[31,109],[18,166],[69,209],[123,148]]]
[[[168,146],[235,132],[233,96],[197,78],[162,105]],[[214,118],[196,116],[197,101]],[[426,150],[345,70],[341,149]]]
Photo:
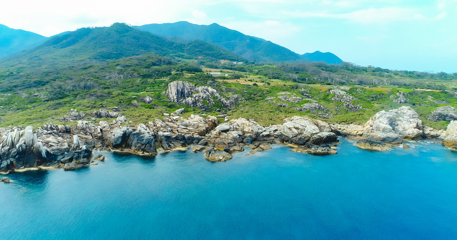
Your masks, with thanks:
[[[2,9],[0,24],[43,36],[184,20],[361,66],[457,72],[457,0],[9,0]]]

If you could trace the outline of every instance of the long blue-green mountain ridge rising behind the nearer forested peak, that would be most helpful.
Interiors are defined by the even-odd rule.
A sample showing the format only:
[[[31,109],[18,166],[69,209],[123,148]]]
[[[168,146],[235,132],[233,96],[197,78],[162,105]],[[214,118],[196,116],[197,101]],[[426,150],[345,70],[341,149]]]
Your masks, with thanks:
[[[279,46],[271,41],[244,35],[216,23],[196,25],[186,21],[164,24],[148,24],[137,26],[138,29],[149,31],[159,36],[179,37],[184,40],[202,40],[222,46],[250,61],[307,61],[298,53]]]

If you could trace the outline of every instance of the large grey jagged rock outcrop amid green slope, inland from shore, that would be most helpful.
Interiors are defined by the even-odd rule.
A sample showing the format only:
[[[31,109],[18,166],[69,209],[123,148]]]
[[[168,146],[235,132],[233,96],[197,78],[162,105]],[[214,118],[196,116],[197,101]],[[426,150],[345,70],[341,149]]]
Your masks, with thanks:
[[[212,87],[196,87],[195,85],[184,81],[170,82],[166,94],[172,102],[202,109],[208,109],[214,104],[213,97],[215,97],[218,102],[221,102],[223,107],[228,109],[232,109],[237,102],[244,101],[244,98],[240,98],[238,95],[233,95],[228,97],[229,99],[225,99]]]

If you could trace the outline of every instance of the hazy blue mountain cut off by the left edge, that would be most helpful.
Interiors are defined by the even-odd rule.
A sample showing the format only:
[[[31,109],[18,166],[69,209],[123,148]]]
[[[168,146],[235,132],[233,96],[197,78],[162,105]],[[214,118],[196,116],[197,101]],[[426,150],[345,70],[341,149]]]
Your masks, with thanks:
[[[48,40],[39,34],[12,29],[0,24],[0,57],[16,51],[27,50]]]

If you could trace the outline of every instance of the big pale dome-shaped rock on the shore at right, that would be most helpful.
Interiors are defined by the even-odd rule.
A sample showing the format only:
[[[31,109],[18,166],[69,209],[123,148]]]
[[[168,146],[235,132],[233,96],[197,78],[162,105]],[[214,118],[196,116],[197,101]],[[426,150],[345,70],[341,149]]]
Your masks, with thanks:
[[[379,141],[395,143],[401,139],[420,139],[423,135],[422,121],[411,107],[377,112],[368,120],[363,136]]]

